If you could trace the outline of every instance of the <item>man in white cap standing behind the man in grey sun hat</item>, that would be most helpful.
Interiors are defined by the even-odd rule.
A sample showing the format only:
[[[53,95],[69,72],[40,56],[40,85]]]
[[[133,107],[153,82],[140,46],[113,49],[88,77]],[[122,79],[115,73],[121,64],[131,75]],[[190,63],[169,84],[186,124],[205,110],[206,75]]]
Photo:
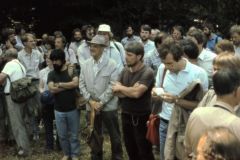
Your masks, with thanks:
[[[117,63],[117,68],[120,73],[126,63],[125,51],[122,44],[113,40],[111,27],[107,24],[99,25],[97,34],[103,35],[106,38],[108,45],[104,49],[104,54],[106,54],[106,57],[113,59]]]

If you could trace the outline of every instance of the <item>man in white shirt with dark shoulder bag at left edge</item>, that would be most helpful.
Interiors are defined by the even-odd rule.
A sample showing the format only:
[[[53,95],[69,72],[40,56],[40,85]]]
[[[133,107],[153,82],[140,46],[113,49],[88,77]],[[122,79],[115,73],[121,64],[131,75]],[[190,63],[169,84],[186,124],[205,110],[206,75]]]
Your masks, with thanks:
[[[13,136],[16,140],[19,148],[18,155],[26,156],[31,153],[29,138],[25,122],[23,118],[24,108],[27,102],[15,103],[12,101],[10,93],[10,82],[21,79],[26,76],[26,70],[24,66],[17,60],[17,51],[15,49],[9,49],[5,53],[5,58],[8,63],[0,73],[0,84],[6,82],[4,93],[7,103],[7,112],[10,120],[10,126],[13,132]],[[9,78],[8,78],[9,77]]]

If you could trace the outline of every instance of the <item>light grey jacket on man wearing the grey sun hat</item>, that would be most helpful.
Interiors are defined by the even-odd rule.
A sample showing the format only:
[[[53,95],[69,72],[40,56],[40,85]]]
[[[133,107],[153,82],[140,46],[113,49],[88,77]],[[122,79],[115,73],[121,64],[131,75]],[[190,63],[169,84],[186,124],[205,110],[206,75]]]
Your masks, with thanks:
[[[113,96],[112,85],[118,78],[119,71],[114,60],[103,57],[99,71],[94,75],[94,60],[90,58],[81,66],[79,88],[86,100],[90,98],[103,104],[103,111],[117,109],[118,98]],[[90,110],[87,105],[87,109]]]

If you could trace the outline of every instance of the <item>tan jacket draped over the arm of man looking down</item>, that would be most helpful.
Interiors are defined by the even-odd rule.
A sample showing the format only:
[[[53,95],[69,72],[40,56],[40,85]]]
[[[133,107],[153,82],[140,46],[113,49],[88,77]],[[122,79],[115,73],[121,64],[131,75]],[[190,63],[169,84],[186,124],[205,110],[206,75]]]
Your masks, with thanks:
[[[179,97],[190,101],[200,101],[203,95],[204,92],[200,82],[193,81],[180,93]],[[167,131],[164,149],[165,160],[186,159],[183,142],[187,121],[191,112],[192,110],[184,109],[175,104]]]

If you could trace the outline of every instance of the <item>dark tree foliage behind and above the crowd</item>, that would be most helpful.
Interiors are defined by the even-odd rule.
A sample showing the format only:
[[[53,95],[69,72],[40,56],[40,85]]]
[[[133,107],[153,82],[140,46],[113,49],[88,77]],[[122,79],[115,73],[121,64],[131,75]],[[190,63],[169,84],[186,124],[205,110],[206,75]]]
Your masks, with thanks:
[[[109,23],[114,33],[121,35],[128,24],[136,29],[143,23],[167,30],[174,24],[195,25],[194,19],[219,25],[227,33],[232,24],[239,23],[238,0],[24,0],[5,1],[1,6],[2,26],[9,18],[35,23],[35,30],[70,31],[84,24]]]

